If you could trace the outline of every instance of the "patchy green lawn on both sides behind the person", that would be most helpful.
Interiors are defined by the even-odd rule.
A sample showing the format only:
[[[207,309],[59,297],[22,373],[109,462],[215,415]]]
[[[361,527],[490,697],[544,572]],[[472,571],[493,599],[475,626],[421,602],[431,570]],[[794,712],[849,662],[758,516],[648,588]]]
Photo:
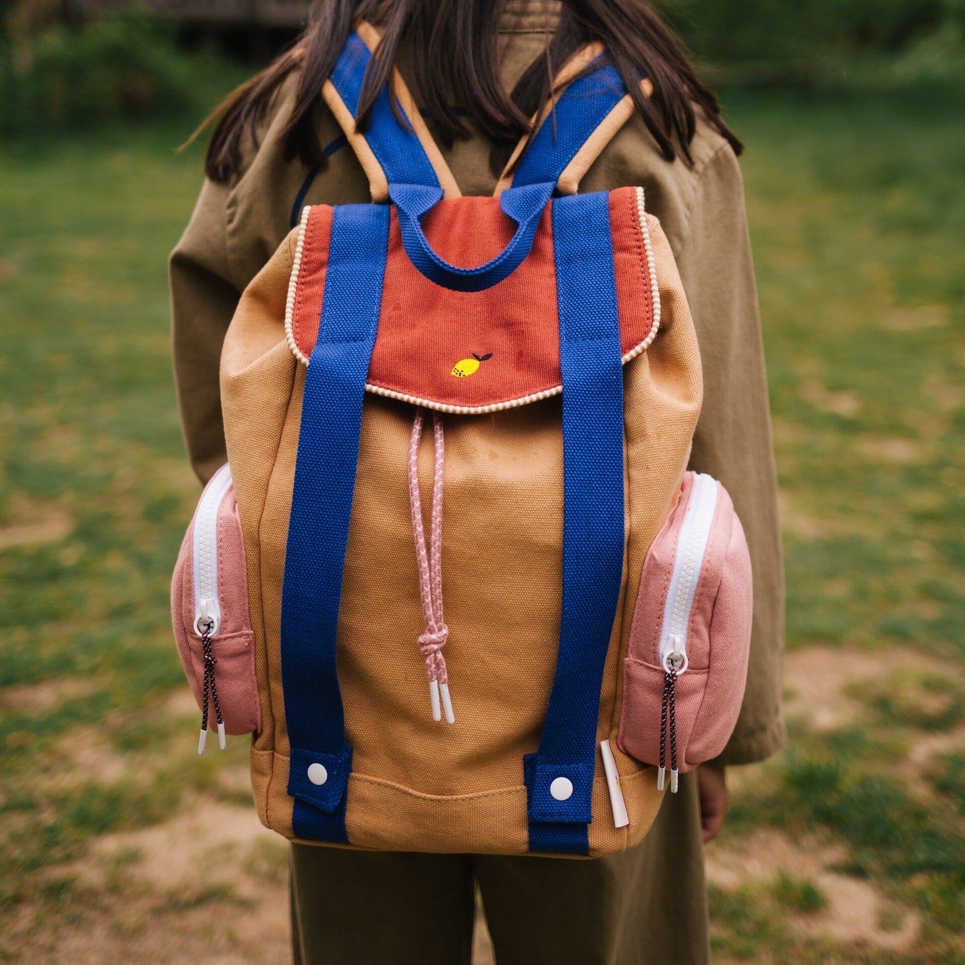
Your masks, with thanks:
[[[791,667],[825,653],[849,710],[791,715],[792,748],[739,782],[720,843],[764,827],[834,867],[715,883],[715,943],[722,959],[965,961],[961,104],[727,102],[749,145]],[[244,798],[218,778],[243,741],[198,758],[172,697],[168,581],[197,496],[165,280],[200,183],[197,153],[172,152],[184,132],[0,154],[0,958],[101,906],[76,871],[96,838],[185,795]],[[880,673],[851,679],[855,661]],[[825,873],[874,890],[883,935],[920,934],[822,929]]]

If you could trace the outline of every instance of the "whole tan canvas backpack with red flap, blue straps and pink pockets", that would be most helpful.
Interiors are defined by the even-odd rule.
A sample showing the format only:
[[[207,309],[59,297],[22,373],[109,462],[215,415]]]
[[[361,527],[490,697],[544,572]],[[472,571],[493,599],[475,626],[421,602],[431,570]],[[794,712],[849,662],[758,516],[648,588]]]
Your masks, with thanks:
[[[306,207],[224,345],[229,462],[172,586],[199,751],[252,733],[296,841],[619,851],[723,750],[752,609],[731,499],[687,471],[670,245],[642,188],[576,193],[632,101],[588,48],[461,197],[398,75],[356,130],[376,42],[323,91],[372,204]]]

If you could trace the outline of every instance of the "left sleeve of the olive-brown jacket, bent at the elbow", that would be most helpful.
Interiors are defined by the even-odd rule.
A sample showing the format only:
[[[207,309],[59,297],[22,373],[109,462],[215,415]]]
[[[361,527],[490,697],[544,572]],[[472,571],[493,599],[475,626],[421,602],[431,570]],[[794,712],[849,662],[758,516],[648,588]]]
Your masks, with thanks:
[[[206,181],[171,255],[172,335],[181,430],[203,483],[225,463],[218,369],[240,292],[228,258],[229,189]]]

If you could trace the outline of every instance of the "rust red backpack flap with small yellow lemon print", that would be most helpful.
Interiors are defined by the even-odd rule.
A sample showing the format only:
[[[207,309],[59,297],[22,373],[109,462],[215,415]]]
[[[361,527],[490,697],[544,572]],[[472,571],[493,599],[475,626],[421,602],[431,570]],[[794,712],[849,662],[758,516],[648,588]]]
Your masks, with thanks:
[[[636,188],[610,193],[610,225],[623,359],[649,344],[655,329],[646,219]],[[423,230],[448,262],[473,267],[509,243],[514,224],[497,198],[441,201]],[[293,267],[294,298],[286,324],[302,362],[312,354],[325,286],[332,208],[312,207],[303,221]],[[533,249],[508,278],[483,291],[430,282],[402,247],[392,210],[378,334],[367,388],[448,412],[491,412],[545,399],[561,390],[560,331],[553,259],[552,207]]]

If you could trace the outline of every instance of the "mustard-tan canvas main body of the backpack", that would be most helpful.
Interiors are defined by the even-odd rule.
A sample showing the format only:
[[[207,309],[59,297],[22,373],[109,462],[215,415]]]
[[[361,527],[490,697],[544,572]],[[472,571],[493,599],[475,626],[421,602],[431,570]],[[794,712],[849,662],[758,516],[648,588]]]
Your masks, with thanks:
[[[648,351],[624,367],[628,540],[597,728],[598,739],[612,738],[614,746],[622,658],[640,571],[676,498],[701,399],[700,356],[674,258],[655,218],[648,218],[648,228],[663,320],[662,334]],[[280,636],[305,377],[284,329],[296,241],[292,232],[242,296],[224,346],[221,385],[249,581],[261,587],[262,613],[254,607],[252,612],[262,654],[255,795],[265,823],[289,837],[290,751]],[[414,658],[414,640],[400,639],[400,628],[418,631],[423,620],[400,457],[411,418],[411,405],[367,396],[339,625],[346,739],[354,748],[348,838],[370,848],[522,854],[528,841],[521,761],[538,741],[559,646],[560,400],[447,421],[443,553],[447,612],[458,641],[446,650],[459,704],[454,728],[428,718],[424,669]],[[654,433],[661,438],[659,446],[653,444]],[[488,454],[487,461],[480,460],[481,452]],[[431,475],[430,459],[424,447],[424,479]],[[527,646],[520,647],[519,640]],[[394,644],[378,647],[373,641]],[[525,699],[493,702],[494,693],[518,693],[523,687]],[[593,791],[593,813],[600,818],[590,827],[592,855],[639,841],[659,807],[651,771],[620,756],[620,773],[630,826],[613,827],[600,769]]]

